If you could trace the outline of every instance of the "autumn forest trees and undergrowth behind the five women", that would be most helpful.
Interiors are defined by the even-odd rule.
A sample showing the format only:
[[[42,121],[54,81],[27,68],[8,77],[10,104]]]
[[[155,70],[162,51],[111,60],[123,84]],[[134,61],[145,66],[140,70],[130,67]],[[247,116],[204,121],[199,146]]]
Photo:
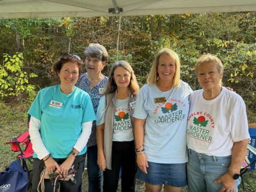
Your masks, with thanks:
[[[38,90],[58,82],[51,71],[52,63],[63,53],[84,59],[83,51],[90,43],[104,45],[109,53],[105,75],[115,61],[126,60],[140,86],[146,84],[154,56],[161,48],[178,53],[181,79],[193,90],[200,88],[194,74],[195,62],[202,54],[216,55],[224,65],[224,86],[243,97],[248,122],[256,122],[256,11],[0,19],[2,141],[27,130],[26,113]],[[2,154],[8,156],[8,151],[10,148],[1,147]],[[6,159],[2,155],[0,158],[1,169]],[[11,158],[6,165],[8,162]]]

